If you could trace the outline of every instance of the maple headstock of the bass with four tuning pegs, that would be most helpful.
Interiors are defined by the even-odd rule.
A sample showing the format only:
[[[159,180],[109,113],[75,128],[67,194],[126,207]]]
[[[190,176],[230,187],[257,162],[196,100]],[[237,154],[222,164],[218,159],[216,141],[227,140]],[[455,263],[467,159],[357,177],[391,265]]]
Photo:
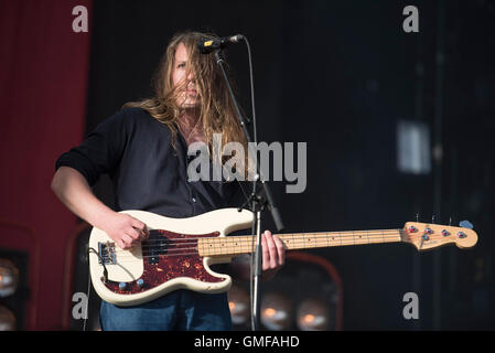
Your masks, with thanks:
[[[477,234],[467,227],[407,222],[401,232],[401,239],[412,244],[418,250],[428,250],[449,244],[455,244],[464,249],[477,243]]]

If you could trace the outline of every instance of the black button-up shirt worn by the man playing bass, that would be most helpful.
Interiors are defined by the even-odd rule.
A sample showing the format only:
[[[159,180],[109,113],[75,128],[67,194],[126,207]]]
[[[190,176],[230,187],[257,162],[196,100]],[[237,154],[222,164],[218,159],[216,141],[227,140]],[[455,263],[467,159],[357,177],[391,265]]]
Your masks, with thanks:
[[[55,169],[74,168],[89,185],[108,173],[115,185],[115,211],[141,210],[183,218],[240,206],[237,181],[189,181],[187,164],[195,157],[187,157],[180,132],[175,147],[166,125],[143,109],[125,108],[98,125],[80,146],[62,154]]]

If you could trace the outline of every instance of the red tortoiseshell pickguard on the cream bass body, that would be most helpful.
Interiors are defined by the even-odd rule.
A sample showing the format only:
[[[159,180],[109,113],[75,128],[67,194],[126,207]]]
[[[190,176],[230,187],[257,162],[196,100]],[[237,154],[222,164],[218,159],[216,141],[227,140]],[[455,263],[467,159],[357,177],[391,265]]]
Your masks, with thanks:
[[[168,242],[168,247],[164,254],[153,256],[153,259],[155,260],[154,264],[154,261],[150,263],[150,255],[144,252],[144,248],[149,246],[149,244],[147,244],[147,240],[141,243],[141,248],[143,249],[143,274],[141,279],[144,281],[144,285],[139,287],[137,280],[134,280],[126,282],[126,289],[120,290],[119,282],[111,280],[105,282],[104,278],[101,278],[108,289],[119,295],[131,295],[143,292],[177,277],[190,277],[202,282],[220,282],[225,280],[224,278],[217,278],[209,275],[203,267],[203,257],[200,257],[197,254],[197,238],[215,237],[219,235],[218,232],[202,235],[177,234],[162,229],[152,232],[154,233],[154,239],[150,240],[150,243],[157,242],[157,238],[162,237]],[[185,242],[187,243],[182,244]],[[187,255],[174,255],[181,253]],[[117,257],[117,264],[118,261],[119,259]]]

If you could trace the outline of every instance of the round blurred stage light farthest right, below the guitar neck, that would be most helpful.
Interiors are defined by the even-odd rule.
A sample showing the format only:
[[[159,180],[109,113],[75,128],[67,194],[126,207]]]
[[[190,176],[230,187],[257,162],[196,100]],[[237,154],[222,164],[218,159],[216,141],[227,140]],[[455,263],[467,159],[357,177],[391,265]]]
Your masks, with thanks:
[[[325,331],[330,323],[329,306],[319,299],[309,298],[298,308],[298,328],[301,331]]]

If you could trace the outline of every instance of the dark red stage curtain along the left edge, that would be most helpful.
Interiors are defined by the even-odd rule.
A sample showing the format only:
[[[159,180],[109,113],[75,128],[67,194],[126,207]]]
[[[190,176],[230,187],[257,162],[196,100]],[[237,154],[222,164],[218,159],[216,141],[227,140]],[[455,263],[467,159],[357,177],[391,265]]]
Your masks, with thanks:
[[[35,237],[0,229],[0,247],[39,245],[40,268],[30,250],[28,330],[62,329],[65,250],[76,217],[50,184],[56,158],[84,137],[92,3],[0,0],[0,221]],[[87,33],[73,31],[76,6],[88,10]]]

